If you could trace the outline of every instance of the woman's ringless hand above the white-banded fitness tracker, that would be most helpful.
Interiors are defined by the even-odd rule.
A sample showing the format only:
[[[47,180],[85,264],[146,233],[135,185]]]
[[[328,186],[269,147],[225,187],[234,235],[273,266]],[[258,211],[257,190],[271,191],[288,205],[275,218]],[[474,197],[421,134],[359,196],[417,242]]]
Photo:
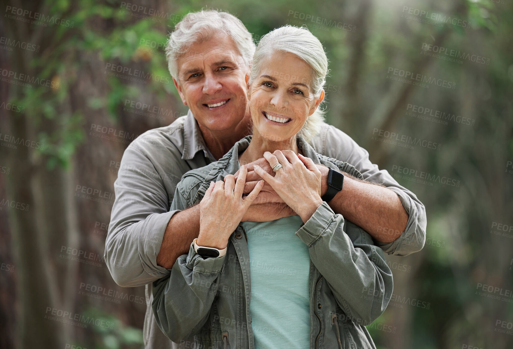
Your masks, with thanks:
[[[210,182],[200,202],[198,245],[218,249],[226,247],[233,230],[264,186],[264,181],[260,181],[247,197],[242,198],[246,174],[247,169],[242,165],[237,182],[233,175],[227,175],[224,182]]]

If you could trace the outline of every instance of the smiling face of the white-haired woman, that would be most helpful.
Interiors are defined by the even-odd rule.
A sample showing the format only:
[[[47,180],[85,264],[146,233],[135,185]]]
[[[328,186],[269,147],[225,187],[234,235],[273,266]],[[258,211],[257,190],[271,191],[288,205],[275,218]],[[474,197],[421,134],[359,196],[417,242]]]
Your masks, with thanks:
[[[263,138],[281,142],[299,132],[324,98],[318,100],[311,87],[310,67],[297,56],[273,51],[248,88],[249,107],[256,129]]]

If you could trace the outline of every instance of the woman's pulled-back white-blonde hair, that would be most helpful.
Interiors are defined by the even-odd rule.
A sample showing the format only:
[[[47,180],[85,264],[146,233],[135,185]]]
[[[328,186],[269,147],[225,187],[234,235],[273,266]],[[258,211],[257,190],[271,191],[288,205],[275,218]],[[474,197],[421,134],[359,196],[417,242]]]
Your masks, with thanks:
[[[319,99],[328,74],[328,59],[319,39],[310,33],[307,28],[290,25],[274,29],[265,34],[253,55],[249,84],[257,79],[262,64],[273,51],[292,53],[310,66],[313,96],[315,99]],[[298,135],[301,135],[306,141],[311,140],[319,133],[323,122],[324,110],[319,106],[306,119]]]

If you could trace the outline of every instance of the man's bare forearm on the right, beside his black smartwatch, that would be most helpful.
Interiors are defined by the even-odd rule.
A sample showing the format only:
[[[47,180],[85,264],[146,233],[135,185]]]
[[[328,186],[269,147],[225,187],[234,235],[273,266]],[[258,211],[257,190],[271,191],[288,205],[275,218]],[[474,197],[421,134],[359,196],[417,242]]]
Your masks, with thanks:
[[[322,193],[328,168],[323,173]],[[408,213],[397,193],[379,184],[361,181],[344,173],[342,190],[331,200],[329,206],[349,221],[362,227],[374,240],[388,243],[396,240],[406,229]]]

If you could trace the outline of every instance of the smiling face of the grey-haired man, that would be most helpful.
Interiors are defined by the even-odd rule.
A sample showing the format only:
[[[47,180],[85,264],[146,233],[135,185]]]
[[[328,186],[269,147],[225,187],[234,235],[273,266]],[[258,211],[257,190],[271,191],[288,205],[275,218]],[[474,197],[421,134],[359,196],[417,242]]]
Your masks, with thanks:
[[[249,68],[231,37],[220,33],[191,45],[177,65],[176,89],[201,126],[222,131],[241,122],[248,105]]]

